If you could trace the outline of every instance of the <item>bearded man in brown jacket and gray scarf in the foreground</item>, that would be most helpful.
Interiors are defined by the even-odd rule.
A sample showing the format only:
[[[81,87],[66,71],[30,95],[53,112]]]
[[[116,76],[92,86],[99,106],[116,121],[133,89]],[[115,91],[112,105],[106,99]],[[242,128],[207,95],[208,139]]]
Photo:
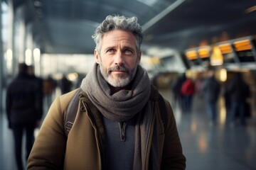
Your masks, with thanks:
[[[158,92],[139,65],[142,37],[135,17],[107,16],[96,28],[96,63],[80,86],[73,128],[66,138],[63,121],[75,91],[53,102],[28,169],[185,169],[171,106],[164,101],[163,125],[151,100]]]

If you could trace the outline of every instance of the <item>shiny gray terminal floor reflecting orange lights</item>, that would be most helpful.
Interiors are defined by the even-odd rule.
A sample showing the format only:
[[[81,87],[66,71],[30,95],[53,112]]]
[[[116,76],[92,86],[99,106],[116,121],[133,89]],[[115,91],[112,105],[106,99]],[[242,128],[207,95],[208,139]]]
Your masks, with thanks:
[[[187,158],[188,170],[256,169],[256,117],[247,126],[230,127],[220,101],[218,124],[209,125],[203,100],[193,98],[193,112],[181,113],[169,91],[161,91],[174,108],[178,132]],[[0,114],[0,169],[15,170],[14,141],[7,128],[5,113]]]

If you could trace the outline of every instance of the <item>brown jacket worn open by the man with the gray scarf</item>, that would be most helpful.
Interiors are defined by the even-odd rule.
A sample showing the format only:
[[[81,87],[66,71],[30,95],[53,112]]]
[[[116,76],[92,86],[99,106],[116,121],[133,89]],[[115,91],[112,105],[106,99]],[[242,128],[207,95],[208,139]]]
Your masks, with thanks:
[[[87,115],[87,108],[85,112],[78,111],[68,139],[65,137],[63,125],[65,111],[75,91],[56,98],[50,106],[28,157],[27,169],[104,169],[101,163],[97,129]],[[151,103],[154,118],[159,122],[159,153],[162,159],[162,169],[185,169],[186,158],[182,153],[174,114],[169,102],[165,100],[165,104],[168,115],[164,130],[158,105],[156,102]],[[80,102],[79,108],[81,105]],[[150,145],[149,143],[148,147]],[[149,169],[149,155],[147,158],[145,167]]]

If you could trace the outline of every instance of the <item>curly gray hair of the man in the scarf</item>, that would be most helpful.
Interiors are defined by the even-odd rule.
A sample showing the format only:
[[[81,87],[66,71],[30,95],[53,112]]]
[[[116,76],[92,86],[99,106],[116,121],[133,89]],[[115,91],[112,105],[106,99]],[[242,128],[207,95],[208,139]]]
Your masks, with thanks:
[[[143,34],[142,27],[137,23],[137,17],[127,18],[125,16],[107,16],[104,21],[95,30],[92,35],[93,40],[96,44],[96,50],[100,52],[101,40],[105,33],[114,30],[127,30],[134,34],[136,38],[137,52],[140,51],[140,45],[142,44]]]

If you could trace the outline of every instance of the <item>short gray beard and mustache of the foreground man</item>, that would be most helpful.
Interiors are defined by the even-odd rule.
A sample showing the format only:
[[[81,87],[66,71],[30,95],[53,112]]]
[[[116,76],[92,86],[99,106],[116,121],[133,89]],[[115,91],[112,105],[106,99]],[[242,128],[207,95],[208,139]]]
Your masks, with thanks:
[[[100,72],[104,79],[107,81],[108,84],[114,87],[123,87],[127,86],[135,77],[135,74],[137,72],[138,64],[136,63],[134,69],[128,69],[127,67],[121,66],[114,66],[110,67],[109,69],[106,69],[102,66],[100,63]],[[111,72],[112,71],[122,71],[126,72],[127,74],[124,76],[122,74],[119,74],[116,78],[112,77]]]

